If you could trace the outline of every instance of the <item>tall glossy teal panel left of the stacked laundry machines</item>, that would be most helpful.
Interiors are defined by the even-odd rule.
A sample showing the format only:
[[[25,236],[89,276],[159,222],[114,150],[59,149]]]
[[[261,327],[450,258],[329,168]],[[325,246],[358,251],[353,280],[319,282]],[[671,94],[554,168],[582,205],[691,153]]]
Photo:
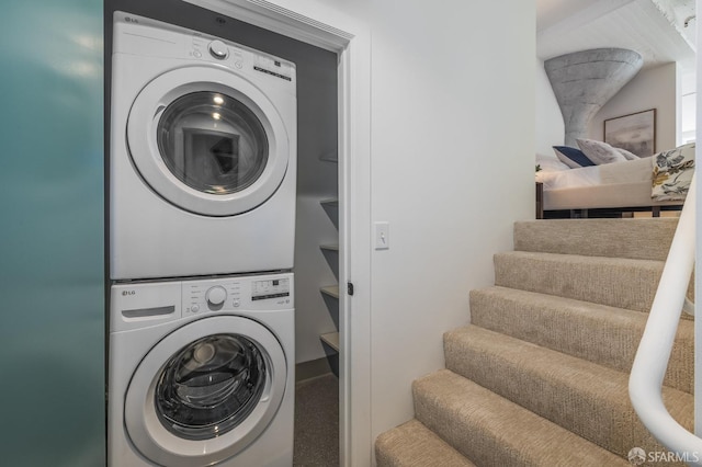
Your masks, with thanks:
[[[2,2],[2,465],[104,465],[102,11]]]

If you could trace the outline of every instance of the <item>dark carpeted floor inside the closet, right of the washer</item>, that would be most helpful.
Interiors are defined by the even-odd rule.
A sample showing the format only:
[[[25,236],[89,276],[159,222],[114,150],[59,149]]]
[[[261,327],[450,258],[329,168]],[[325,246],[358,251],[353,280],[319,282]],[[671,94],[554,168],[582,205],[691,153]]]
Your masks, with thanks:
[[[332,374],[295,387],[293,466],[339,466],[339,379]]]

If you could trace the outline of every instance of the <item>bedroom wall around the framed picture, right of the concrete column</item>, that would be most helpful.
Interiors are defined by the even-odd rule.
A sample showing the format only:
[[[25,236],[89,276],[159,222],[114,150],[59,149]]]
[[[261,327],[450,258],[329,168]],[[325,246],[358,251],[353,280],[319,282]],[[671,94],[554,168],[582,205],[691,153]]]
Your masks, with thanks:
[[[670,62],[642,70],[595,115],[589,125],[592,139],[602,140],[604,121],[656,109],[656,151],[677,146],[678,65]]]

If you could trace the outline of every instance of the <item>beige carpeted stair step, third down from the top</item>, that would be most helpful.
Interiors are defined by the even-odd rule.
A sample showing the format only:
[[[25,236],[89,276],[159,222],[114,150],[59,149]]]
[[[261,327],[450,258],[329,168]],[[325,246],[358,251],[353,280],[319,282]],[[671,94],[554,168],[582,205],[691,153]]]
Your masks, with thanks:
[[[505,287],[471,291],[471,322],[629,373],[648,315]],[[680,320],[665,385],[692,394],[694,323]]]

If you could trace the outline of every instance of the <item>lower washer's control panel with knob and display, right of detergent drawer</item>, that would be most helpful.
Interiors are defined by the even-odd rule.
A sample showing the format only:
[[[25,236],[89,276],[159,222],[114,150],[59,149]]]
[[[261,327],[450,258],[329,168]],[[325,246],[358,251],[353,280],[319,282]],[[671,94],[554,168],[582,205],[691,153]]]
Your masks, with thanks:
[[[183,281],[182,305],[185,316],[213,311],[293,308],[293,275]]]

